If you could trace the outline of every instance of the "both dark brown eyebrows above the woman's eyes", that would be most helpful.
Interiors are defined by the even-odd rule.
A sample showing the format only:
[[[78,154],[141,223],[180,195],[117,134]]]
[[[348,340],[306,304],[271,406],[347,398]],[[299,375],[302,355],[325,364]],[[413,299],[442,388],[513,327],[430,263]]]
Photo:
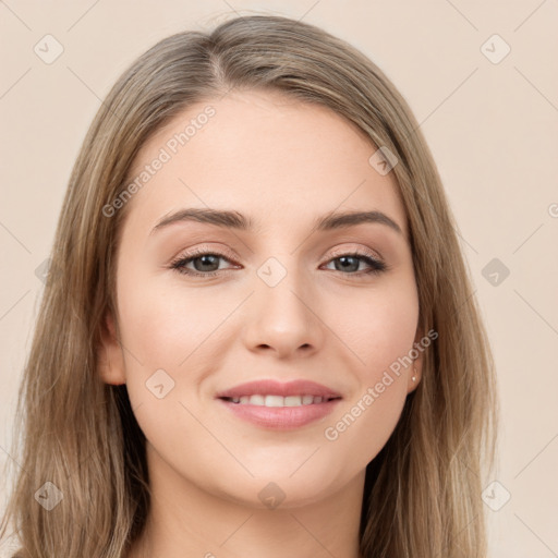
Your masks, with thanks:
[[[180,209],[163,217],[151,230],[151,234],[157,230],[173,225],[175,222],[196,221],[217,227],[236,229],[241,231],[252,231],[255,229],[255,222],[250,217],[239,211],[189,208]],[[399,225],[381,211],[330,211],[314,221],[314,229],[318,231],[329,231],[333,229],[347,229],[362,223],[385,225],[403,234]]]

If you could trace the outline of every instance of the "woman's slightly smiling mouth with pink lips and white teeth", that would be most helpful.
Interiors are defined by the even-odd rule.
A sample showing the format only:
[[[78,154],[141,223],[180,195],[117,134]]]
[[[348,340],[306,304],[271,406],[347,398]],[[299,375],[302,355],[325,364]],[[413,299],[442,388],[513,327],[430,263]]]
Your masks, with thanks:
[[[260,428],[287,430],[324,418],[342,396],[308,380],[257,380],[217,393],[216,399],[242,421]]]

